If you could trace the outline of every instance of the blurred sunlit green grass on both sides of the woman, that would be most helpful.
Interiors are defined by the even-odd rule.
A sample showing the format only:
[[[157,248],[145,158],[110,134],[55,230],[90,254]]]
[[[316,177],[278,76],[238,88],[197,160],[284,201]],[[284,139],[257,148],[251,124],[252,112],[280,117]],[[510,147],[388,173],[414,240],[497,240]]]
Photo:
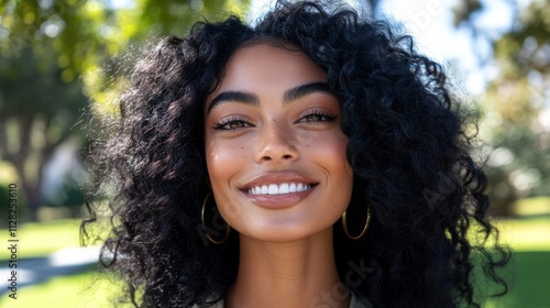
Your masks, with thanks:
[[[18,230],[19,257],[46,256],[63,248],[78,246],[79,224],[79,220],[68,219],[22,226]],[[482,307],[550,307],[550,217],[498,220],[495,224],[501,229],[503,242],[514,250],[505,274],[510,292],[502,298],[480,297],[484,298]],[[7,229],[0,232],[8,234]],[[0,256],[7,260],[8,252],[1,251]],[[54,277],[21,288],[16,301],[4,294],[0,307],[113,307],[110,301],[119,289],[118,285],[99,276],[92,266],[77,275]],[[477,287],[482,294],[497,290],[486,283]]]

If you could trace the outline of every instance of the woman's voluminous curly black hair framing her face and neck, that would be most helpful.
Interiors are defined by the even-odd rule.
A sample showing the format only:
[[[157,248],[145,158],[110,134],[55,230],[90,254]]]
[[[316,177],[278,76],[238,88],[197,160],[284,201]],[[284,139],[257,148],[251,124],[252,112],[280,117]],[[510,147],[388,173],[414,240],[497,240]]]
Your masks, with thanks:
[[[253,42],[298,46],[326,70],[340,101],[354,172],[349,211],[361,212],[348,223],[363,226],[372,209],[362,239],[348,239],[341,222],[334,228],[343,283],[374,307],[479,307],[475,265],[506,294],[496,270],[509,252],[487,219],[486,176],[470,154],[475,119],[451,95],[442,67],[418,54],[410,36],[344,6],[278,1],[254,26],[230,16],[160,41],[135,65],[120,117],[98,129],[92,217],[103,202],[92,197],[107,191],[112,229],[100,260],[128,282],[128,301],[191,307],[223,297],[235,278],[237,232],[210,244],[200,219],[209,191],[204,105],[231,55]]]

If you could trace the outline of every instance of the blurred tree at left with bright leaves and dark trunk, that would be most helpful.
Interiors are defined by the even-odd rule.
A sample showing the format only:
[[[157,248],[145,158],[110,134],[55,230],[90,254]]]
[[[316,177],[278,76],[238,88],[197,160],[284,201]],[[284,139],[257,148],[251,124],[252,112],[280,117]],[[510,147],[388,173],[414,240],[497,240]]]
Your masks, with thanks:
[[[117,55],[148,37],[184,36],[220,11],[243,14],[250,0],[0,0],[0,160],[13,164],[32,218],[42,169],[88,101],[106,101]]]

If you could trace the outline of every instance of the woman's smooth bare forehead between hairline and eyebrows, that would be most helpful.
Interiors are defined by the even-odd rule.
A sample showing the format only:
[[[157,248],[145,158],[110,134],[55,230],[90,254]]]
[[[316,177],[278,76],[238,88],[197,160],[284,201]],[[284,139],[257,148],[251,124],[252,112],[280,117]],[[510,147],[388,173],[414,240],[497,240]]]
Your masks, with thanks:
[[[215,94],[263,88],[286,90],[326,79],[324,70],[294,45],[256,43],[241,47],[232,55]]]

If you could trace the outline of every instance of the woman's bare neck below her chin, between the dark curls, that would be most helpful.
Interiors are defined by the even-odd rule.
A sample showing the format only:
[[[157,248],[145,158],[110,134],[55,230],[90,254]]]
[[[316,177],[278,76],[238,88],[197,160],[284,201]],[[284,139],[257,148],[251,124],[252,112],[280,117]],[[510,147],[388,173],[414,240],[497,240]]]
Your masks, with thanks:
[[[349,307],[332,248],[332,229],[299,241],[240,238],[239,272],[226,307]]]

